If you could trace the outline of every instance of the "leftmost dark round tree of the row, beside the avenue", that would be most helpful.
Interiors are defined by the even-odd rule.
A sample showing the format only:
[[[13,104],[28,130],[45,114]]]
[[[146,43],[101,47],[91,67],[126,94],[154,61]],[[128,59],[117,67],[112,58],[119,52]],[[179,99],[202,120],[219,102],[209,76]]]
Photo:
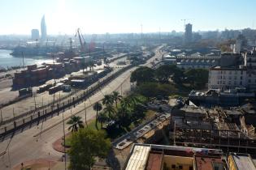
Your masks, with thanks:
[[[153,82],[154,81],[154,70],[146,67],[141,66],[134,70],[131,74],[130,82],[134,83],[137,82],[137,85],[145,82]]]

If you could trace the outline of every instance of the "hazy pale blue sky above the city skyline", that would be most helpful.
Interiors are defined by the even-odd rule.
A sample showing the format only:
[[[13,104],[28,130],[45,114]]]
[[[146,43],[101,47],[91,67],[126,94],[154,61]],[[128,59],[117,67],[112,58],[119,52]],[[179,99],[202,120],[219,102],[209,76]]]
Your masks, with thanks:
[[[0,0],[0,34],[193,31],[256,27],[255,0]],[[255,25],[255,26],[254,26]]]

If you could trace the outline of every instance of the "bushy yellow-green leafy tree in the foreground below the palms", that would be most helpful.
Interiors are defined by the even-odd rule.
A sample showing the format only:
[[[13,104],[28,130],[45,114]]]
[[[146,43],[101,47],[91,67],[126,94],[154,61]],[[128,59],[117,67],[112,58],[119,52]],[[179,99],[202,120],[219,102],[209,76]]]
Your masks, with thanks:
[[[111,141],[102,130],[81,129],[71,136],[69,168],[89,170],[95,163],[95,157],[106,158],[111,149]]]

